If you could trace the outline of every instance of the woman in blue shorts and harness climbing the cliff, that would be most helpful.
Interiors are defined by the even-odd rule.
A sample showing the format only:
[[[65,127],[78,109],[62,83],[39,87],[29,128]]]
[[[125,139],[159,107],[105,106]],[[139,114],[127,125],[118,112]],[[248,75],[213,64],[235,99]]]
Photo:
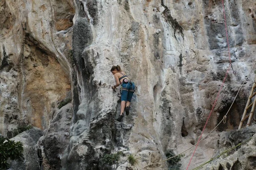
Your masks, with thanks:
[[[128,80],[128,77],[121,70],[119,65],[113,66],[111,68],[111,73],[116,79],[116,85],[113,85],[112,88],[115,89],[121,85],[121,112],[117,121],[121,122],[121,119],[124,117],[124,111],[126,115],[129,114],[129,106],[131,104],[131,98],[135,92],[135,84]]]

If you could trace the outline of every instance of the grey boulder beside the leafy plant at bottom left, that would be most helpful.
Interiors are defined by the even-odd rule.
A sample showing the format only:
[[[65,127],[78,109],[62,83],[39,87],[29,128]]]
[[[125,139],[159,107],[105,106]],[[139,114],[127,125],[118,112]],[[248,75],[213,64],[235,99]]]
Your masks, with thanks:
[[[38,139],[41,136],[43,136],[43,130],[33,127],[11,139],[15,142],[20,141],[23,144],[24,160],[12,161],[8,170],[41,170],[37,147]]]

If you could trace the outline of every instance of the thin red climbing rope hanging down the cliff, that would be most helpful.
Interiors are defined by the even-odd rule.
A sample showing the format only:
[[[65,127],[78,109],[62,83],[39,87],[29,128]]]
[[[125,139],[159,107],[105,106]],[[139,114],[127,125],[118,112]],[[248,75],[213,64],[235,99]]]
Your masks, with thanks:
[[[222,84],[221,84],[221,88],[220,88],[220,90],[218,91],[218,95],[217,95],[217,97],[216,97],[216,99],[215,99],[215,101],[214,101],[214,104],[213,104],[213,106],[212,106],[212,110],[211,110],[211,112],[210,112],[210,114],[209,114],[209,116],[208,116],[208,118],[207,118],[207,121],[206,121],[206,123],[205,123],[205,125],[204,125],[204,129],[203,129],[203,131],[202,131],[202,133],[201,133],[200,138],[198,139],[197,145],[196,145],[195,150],[194,150],[194,152],[193,152],[193,154],[192,154],[192,156],[191,156],[191,159],[190,159],[190,161],[189,161],[189,164],[188,164],[186,170],[189,169],[189,165],[190,165],[190,163],[191,163],[191,161],[192,161],[192,158],[193,158],[193,156],[194,156],[194,154],[195,154],[195,151],[196,151],[196,149],[197,149],[197,147],[198,147],[198,144],[199,144],[199,142],[200,142],[200,140],[201,140],[201,138],[202,138],[202,135],[203,135],[203,133],[204,133],[205,127],[206,127],[206,125],[207,125],[207,123],[208,123],[208,120],[209,120],[209,118],[210,118],[210,116],[211,116],[211,114],[212,114],[212,111],[213,111],[213,109],[214,109],[214,107],[215,107],[215,105],[216,105],[216,102],[217,102],[217,100],[218,100],[219,94],[220,94],[220,92],[221,92],[221,90],[222,90],[222,88],[223,88],[223,86],[224,86],[224,82],[225,82],[225,80],[226,80],[226,78],[227,78],[227,74],[228,74],[228,72],[230,71],[230,67],[233,69],[232,64],[231,64],[230,47],[229,47],[228,34],[227,34],[226,14],[225,14],[225,7],[224,7],[224,1],[223,1],[223,0],[222,0],[222,6],[223,6],[223,13],[224,13],[224,21],[225,21],[226,36],[227,36],[227,48],[228,48],[228,56],[229,56],[229,60],[230,60],[230,65],[229,65],[229,67],[227,68],[227,73],[226,73],[226,75],[225,75],[225,77],[224,77],[224,80],[223,80],[223,82],[222,82]],[[235,71],[233,71],[233,73],[236,74]]]

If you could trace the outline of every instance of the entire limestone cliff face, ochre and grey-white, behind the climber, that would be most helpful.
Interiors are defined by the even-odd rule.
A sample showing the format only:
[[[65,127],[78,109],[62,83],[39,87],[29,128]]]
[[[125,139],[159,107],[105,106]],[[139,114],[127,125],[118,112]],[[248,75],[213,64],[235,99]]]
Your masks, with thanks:
[[[236,75],[229,72],[206,133],[255,61],[254,0],[224,3]],[[140,168],[149,152],[156,162],[197,142],[230,62],[221,0],[2,0],[0,8],[0,133],[20,122],[46,129],[38,142],[45,169],[135,169],[130,153]],[[112,65],[138,87],[122,123],[115,121],[120,101],[111,89]],[[211,158],[220,131],[237,128],[254,77],[247,77],[227,123],[199,144],[191,169]],[[70,90],[73,109],[58,110]],[[117,151],[115,165],[103,161]]]

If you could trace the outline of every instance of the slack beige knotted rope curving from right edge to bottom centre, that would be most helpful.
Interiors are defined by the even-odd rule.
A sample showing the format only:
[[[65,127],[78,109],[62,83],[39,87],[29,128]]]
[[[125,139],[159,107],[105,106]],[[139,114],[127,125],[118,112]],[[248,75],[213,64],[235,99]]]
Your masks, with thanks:
[[[251,68],[249,74],[247,75],[247,78],[249,77],[249,75],[250,75],[251,72],[253,71],[253,68],[254,68],[255,64],[256,64],[256,62],[254,62],[253,67]],[[228,111],[227,111],[227,113],[225,114],[225,116],[227,116],[227,114],[229,113],[231,107],[233,106],[233,104],[234,104],[234,102],[235,102],[235,100],[236,100],[236,97],[237,97],[238,94],[239,94],[239,91],[241,90],[242,86],[243,86],[244,83],[246,82],[247,78],[244,80],[243,84],[240,86],[239,90],[237,91],[237,94],[236,94],[235,98],[233,99],[233,102],[232,102],[232,104],[230,105],[230,108],[228,109]],[[223,117],[223,119],[218,123],[218,125],[216,125],[216,126],[215,126],[206,136],[204,136],[204,138],[201,139],[198,143],[200,143],[202,140],[204,140],[205,138],[207,138],[207,136],[209,136],[209,134],[212,133],[212,132],[221,124],[221,122],[224,121],[224,119],[225,119],[225,118]],[[194,144],[192,147],[194,147],[194,146],[197,145],[198,143]],[[168,159],[164,159],[164,160],[158,161],[158,162],[156,162],[156,163],[151,163],[151,165],[153,165],[153,164],[159,164],[159,163],[161,163],[161,162],[163,162],[163,161],[167,161],[167,160],[169,160],[169,159],[173,159],[173,158],[175,158],[176,156],[179,156],[179,155],[185,153],[186,151],[190,150],[192,147],[189,147],[187,150],[183,151],[182,153],[179,153],[179,154],[177,154],[177,155],[175,155],[175,156],[172,156],[172,157],[170,157],[170,158],[168,158]],[[146,165],[145,167],[148,167],[148,166],[149,166],[149,165]],[[145,167],[140,168],[140,170],[144,169]]]

